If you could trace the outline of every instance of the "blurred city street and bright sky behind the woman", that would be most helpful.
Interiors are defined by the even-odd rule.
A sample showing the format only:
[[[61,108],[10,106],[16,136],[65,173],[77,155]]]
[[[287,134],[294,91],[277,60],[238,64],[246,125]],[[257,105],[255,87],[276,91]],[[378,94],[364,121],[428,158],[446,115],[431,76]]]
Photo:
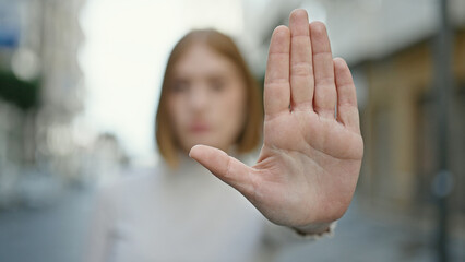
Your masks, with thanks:
[[[95,188],[158,160],[183,34],[231,35],[262,81],[296,8],[349,63],[365,158],[335,236],[277,260],[465,261],[464,0],[0,0],[0,261],[80,261]]]

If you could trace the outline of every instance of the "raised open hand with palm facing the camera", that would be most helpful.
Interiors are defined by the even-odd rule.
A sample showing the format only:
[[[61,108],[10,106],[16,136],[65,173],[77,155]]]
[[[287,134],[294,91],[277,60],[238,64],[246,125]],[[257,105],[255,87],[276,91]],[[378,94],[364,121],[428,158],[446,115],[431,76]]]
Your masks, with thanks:
[[[337,105],[337,115],[335,107]],[[354,81],[326,28],[295,10],[272,35],[263,146],[249,167],[195,145],[190,156],[242,193],[271,222],[322,233],[351,201],[363,155]]]

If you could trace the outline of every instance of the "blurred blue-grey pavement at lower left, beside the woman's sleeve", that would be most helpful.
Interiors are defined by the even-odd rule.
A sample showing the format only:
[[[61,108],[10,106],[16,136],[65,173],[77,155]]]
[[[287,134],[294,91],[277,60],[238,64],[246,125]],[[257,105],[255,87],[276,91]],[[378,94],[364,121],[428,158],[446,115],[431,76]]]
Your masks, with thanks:
[[[0,261],[81,262],[91,198],[72,189],[47,207],[0,211]]]

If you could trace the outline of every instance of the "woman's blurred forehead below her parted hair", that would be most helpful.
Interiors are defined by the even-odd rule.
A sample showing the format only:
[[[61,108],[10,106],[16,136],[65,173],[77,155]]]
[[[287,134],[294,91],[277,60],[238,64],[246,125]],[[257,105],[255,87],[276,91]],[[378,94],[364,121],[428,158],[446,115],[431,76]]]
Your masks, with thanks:
[[[236,64],[206,45],[195,44],[175,64],[175,73],[182,76],[234,74]]]

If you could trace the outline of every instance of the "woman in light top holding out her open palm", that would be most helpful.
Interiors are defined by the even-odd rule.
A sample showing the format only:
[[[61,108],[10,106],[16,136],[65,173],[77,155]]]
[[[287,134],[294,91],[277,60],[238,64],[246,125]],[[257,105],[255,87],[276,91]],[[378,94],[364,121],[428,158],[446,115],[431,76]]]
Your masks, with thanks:
[[[324,25],[309,25],[306,11],[273,33],[263,146],[249,167],[242,162],[261,132],[257,97],[228,37],[183,37],[157,112],[165,162],[102,192],[86,261],[257,261],[263,221],[246,199],[300,235],[331,231],[350,203],[362,139],[349,69],[332,58]]]

